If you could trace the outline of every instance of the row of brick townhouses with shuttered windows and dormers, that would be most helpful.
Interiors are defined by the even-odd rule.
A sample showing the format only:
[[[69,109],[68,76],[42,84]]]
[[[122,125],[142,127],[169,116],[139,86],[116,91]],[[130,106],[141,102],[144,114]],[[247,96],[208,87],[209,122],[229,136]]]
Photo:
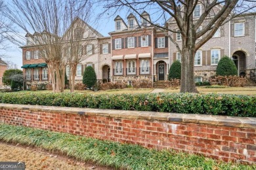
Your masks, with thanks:
[[[200,6],[200,4],[199,4]],[[200,16],[202,7],[196,8],[194,16]],[[150,20],[147,12],[142,16]],[[215,75],[217,64],[223,56],[234,60],[238,68],[238,75],[250,75],[255,72],[255,22],[254,14],[244,14],[222,25],[215,35],[197,52],[194,60],[195,80],[205,81]],[[114,19],[115,30],[110,37],[104,37],[79,18],[74,22],[81,22],[79,30],[83,31],[81,41],[90,44],[82,45],[84,54],[89,56],[77,65],[75,80],[81,81],[85,67],[92,66],[98,80],[103,82],[132,80],[158,81],[167,80],[169,67],[175,60],[181,61],[181,54],[167,34],[150,25],[146,20],[129,14],[127,22],[120,16]],[[82,25],[82,26],[81,26]],[[175,21],[170,19],[167,25],[177,29]],[[203,24],[202,24],[203,27]],[[173,40],[181,45],[180,33],[169,33]],[[30,39],[27,35],[27,39]],[[86,38],[85,38],[86,37]],[[62,40],[65,41],[65,35]],[[29,41],[28,41],[29,42]],[[49,81],[47,65],[39,58],[39,51],[33,44],[22,46],[24,75],[26,84]],[[67,75],[70,68],[67,65]]]

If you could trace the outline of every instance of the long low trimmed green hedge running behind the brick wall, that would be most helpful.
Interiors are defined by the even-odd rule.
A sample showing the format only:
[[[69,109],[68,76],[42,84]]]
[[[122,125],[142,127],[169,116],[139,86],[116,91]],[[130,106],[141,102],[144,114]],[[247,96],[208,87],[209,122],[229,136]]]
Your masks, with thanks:
[[[256,117],[255,95],[0,93],[1,103]]]

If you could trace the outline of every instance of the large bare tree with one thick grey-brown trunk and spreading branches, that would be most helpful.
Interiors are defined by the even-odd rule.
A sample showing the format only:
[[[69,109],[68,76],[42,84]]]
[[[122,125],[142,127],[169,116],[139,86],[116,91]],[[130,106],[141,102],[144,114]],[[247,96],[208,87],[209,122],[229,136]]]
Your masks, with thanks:
[[[181,54],[181,92],[198,92],[194,84],[194,56],[196,51],[205,42],[209,41],[217,29],[224,23],[255,8],[256,1],[239,0],[173,0],[173,1],[135,1],[135,0],[113,0],[105,2],[106,10],[122,10],[127,7],[141,18],[155,27],[166,32],[170,41],[175,44]],[[198,4],[202,4],[202,14],[194,17],[194,10]],[[165,25],[156,24],[141,15],[143,10],[154,10],[157,14],[156,21],[164,20]],[[171,27],[169,22],[175,22],[177,27]],[[203,27],[202,27],[203,25]],[[202,27],[202,29],[200,29]],[[174,41],[171,34],[181,33],[182,44]]]

